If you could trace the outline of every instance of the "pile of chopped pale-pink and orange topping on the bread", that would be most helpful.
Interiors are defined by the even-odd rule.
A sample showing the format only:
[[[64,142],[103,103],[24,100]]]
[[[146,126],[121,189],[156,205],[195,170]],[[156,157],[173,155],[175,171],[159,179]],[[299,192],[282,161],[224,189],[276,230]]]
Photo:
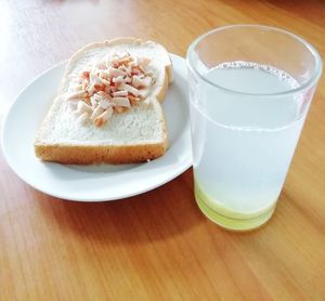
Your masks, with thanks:
[[[151,60],[114,53],[103,62],[88,67],[74,78],[66,100],[74,107],[78,122],[91,120],[102,127],[113,114],[125,113],[147,97],[155,83],[148,70]]]

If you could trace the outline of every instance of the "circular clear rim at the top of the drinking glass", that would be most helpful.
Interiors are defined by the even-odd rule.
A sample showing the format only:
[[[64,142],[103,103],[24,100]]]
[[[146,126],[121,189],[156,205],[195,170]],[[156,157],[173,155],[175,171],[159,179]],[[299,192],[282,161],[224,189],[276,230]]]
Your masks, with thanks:
[[[268,30],[272,30],[272,31],[278,31],[281,34],[284,34],[286,36],[289,36],[290,38],[297,40],[298,42],[302,43],[312,54],[312,56],[315,60],[315,69],[312,74],[312,76],[310,77],[310,79],[308,81],[306,81],[304,83],[302,83],[301,86],[297,87],[297,88],[292,88],[283,92],[276,92],[276,93],[248,93],[248,92],[240,92],[240,91],[236,91],[236,90],[232,90],[232,89],[227,89],[224,88],[222,86],[219,86],[217,83],[214,83],[213,81],[207,79],[206,77],[203,76],[203,74],[200,71],[198,71],[195,67],[194,64],[191,60],[191,53],[194,52],[195,47],[203,41],[206,37],[210,36],[211,34],[218,32],[218,31],[222,31],[225,29],[231,29],[231,28],[243,28],[243,27],[251,27],[251,28],[260,28],[260,29],[268,29]],[[282,29],[282,28],[277,28],[277,27],[273,27],[273,26],[268,26],[268,25],[259,25],[259,24],[234,24],[234,25],[226,25],[226,26],[221,26],[221,27],[217,27],[213,28],[200,36],[198,36],[188,47],[187,49],[187,53],[186,53],[186,64],[190,68],[190,70],[192,70],[194,74],[196,74],[203,81],[213,86],[214,88],[218,88],[224,92],[227,93],[232,93],[232,94],[239,94],[239,95],[247,95],[247,96],[282,96],[282,95],[288,95],[288,94],[295,94],[298,92],[301,92],[310,87],[312,87],[314,83],[317,82],[318,78],[321,77],[322,74],[322,58],[321,55],[318,54],[318,52],[316,51],[316,49],[309,43],[308,41],[306,41],[304,39],[300,38],[299,36]]]

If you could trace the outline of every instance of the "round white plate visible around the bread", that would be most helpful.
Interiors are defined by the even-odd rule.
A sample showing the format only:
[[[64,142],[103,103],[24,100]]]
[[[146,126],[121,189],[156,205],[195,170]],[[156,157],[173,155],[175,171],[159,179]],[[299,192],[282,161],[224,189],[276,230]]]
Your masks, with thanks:
[[[2,148],[10,167],[26,183],[46,194],[79,201],[134,196],[174,179],[192,165],[187,73],[185,60],[171,54],[174,81],[164,109],[169,149],[140,165],[64,166],[42,162],[34,154],[34,138],[55,95],[66,63],[28,84],[10,108],[2,127]]]

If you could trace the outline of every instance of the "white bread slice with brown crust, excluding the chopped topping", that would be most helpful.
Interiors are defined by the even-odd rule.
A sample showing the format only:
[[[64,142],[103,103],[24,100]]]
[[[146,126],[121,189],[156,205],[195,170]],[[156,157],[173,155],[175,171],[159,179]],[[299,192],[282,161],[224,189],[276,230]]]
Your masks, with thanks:
[[[113,114],[103,127],[80,125],[72,114],[65,94],[70,75],[91,62],[101,62],[107,53],[128,52],[151,58],[155,74],[147,100],[122,114]],[[57,96],[47,114],[34,143],[36,156],[61,163],[133,163],[155,159],[167,149],[167,131],[160,103],[172,81],[171,61],[166,49],[153,41],[118,38],[92,43],[69,60]]]

